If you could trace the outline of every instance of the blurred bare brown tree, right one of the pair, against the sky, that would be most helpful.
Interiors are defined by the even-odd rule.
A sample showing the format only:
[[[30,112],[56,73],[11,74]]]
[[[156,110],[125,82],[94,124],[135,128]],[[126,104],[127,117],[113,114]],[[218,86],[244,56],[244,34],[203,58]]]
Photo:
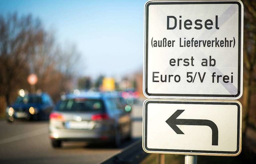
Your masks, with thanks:
[[[60,92],[72,89],[80,63],[80,53],[74,45],[66,45],[67,49],[60,47],[54,34],[44,31],[43,42],[30,59],[30,70],[38,75],[37,88],[48,92],[54,100],[60,97]]]

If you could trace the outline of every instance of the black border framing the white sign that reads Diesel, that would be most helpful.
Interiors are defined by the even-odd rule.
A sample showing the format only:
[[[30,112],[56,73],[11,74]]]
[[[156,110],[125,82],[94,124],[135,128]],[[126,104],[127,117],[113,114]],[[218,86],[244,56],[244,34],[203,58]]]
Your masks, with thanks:
[[[169,4],[238,4],[238,91],[236,95],[222,95],[222,94],[150,94],[148,93],[148,8],[150,5],[169,5]],[[241,27],[242,27],[242,12],[241,12],[241,4],[237,1],[209,1],[209,2],[148,2],[145,5],[146,8],[146,38],[145,38],[145,85],[143,87],[144,93],[146,97],[158,96],[158,97],[205,97],[205,98],[239,98],[241,94]]]

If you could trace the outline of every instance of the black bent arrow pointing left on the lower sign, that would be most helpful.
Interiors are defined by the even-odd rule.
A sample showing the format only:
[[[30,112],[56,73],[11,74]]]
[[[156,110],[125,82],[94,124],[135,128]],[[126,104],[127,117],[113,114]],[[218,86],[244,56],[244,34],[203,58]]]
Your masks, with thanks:
[[[166,120],[166,123],[177,133],[184,133],[177,127],[177,125],[198,125],[198,126],[208,126],[212,129],[212,145],[218,145],[218,127],[217,125],[207,119],[177,119],[177,117],[184,112],[184,110],[177,110],[173,113],[171,117]]]

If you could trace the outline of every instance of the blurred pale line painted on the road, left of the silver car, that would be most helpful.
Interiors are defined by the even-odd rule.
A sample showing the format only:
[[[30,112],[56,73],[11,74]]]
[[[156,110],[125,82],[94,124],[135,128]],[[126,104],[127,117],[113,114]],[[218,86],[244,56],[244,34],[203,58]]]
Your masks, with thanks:
[[[2,139],[2,140],[0,140],[0,144],[11,143],[11,142],[26,139],[29,137],[35,137],[35,136],[38,136],[38,135],[41,135],[44,133],[48,133],[48,127],[44,127],[42,129],[38,129],[35,131],[30,131],[28,133],[24,133],[24,134],[16,135],[13,137],[8,137],[6,139]]]

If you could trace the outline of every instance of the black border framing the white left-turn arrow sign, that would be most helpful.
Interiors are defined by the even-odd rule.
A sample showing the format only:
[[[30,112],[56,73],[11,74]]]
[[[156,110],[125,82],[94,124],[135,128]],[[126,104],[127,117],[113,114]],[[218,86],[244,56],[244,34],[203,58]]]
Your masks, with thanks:
[[[146,100],[147,101],[147,100]],[[147,147],[147,134],[148,134],[148,104],[149,103],[172,103],[172,104],[208,104],[208,105],[236,105],[238,108],[238,114],[237,114],[237,144],[236,144],[236,151],[234,152],[230,152],[230,151],[213,151],[213,150],[179,150],[179,149],[158,149],[158,148],[148,148]],[[144,103],[144,124],[143,124],[143,128],[144,128],[144,142],[143,142],[143,146],[144,149],[149,151],[149,152],[166,152],[166,154],[178,154],[178,153],[184,153],[184,154],[198,154],[198,155],[209,155],[210,154],[214,154],[214,155],[218,155],[218,156],[228,156],[228,154],[232,154],[231,156],[237,156],[240,154],[241,152],[241,147],[240,147],[240,113],[241,113],[241,107],[238,103],[236,102],[189,102],[189,101],[163,101],[163,100],[148,100],[146,103]],[[222,155],[224,154],[224,155]]]

